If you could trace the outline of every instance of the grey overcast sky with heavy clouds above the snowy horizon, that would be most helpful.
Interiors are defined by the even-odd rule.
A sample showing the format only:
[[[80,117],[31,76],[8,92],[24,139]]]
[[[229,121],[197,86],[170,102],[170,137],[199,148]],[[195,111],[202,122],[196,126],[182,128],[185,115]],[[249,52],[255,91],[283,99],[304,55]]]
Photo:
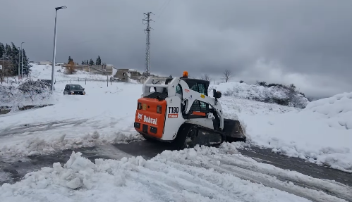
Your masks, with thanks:
[[[0,42],[32,61],[101,56],[144,70],[143,13],[152,15],[152,73],[208,73],[232,81],[296,84],[308,96],[352,91],[351,0],[1,0]]]

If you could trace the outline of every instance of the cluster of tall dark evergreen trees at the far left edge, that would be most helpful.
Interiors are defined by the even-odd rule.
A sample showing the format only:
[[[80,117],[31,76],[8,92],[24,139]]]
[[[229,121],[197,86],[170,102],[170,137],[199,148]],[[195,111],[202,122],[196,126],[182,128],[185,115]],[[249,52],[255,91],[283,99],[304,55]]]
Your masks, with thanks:
[[[21,50],[11,42],[9,44],[2,44],[0,42],[0,57],[3,58],[4,67],[3,70],[6,75],[14,76],[18,75],[18,59],[20,59],[19,64],[21,65]],[[10,62],[8,62],[10,61]],[[3,65],[3,61],[0,61],[0,65]],[[29,63],[29,58],[25,55],[25,49],[23,49],[23,75],[28,75],[30,72],[30,68],[32,65]],[[21,74],[21,66],[20,66],[20,74]]]

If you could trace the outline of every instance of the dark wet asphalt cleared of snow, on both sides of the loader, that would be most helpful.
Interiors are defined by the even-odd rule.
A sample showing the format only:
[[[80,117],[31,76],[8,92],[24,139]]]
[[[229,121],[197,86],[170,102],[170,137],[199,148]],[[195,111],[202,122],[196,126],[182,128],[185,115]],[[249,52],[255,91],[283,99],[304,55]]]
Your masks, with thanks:
[[[157,144],[157,145],[156,145]],[[142,156],[145,159],[153,158],[158,153],[172,148],[168,144],[150,141],[135,141],[129,144],[111,144],[75,149],[75,152],[83,153],[83,156],[94,160],[95,158],[109,158],[120,160],[123,157]],[[270,149],[251,147],[250,149],[238,150],[244,156],[249,156],[258,162],[274,165],[278,168],[296,170],[304,175],[320,179],[330,179],[352,187],[352,174],[327,168],[324,166],[307,163],[300,158],[288,158],[286,156],[272,153]],[[18,159],[0,160],[0,185],[4,183],[15,183],[28,172],[40,170],[43,167],[52,167],[53,163],[66,163],[70,158],[72,150],[65,150],[45,156],[28,156]],[[352,189],[351,189],[352,190]]]

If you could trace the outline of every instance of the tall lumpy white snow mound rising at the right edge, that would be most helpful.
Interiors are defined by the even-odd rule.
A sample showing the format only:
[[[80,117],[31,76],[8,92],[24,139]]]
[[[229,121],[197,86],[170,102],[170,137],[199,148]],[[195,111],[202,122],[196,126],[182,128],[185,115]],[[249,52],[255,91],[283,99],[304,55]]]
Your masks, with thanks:
[[[322,114],[329,127],[352,130],[352,92],[313,101],[305,111]]]

